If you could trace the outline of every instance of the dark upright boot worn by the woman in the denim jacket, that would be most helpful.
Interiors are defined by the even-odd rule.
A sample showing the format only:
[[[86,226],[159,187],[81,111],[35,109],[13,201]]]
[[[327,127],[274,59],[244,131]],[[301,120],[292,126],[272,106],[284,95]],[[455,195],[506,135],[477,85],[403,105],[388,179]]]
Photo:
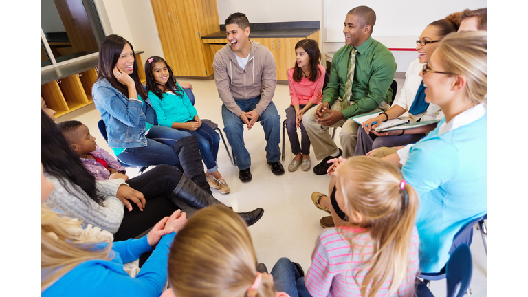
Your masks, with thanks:
[[[181,138],[174,144],[174,151],[179,157],[179,164],[184,169],[184,175],[212,195],[206,174],[203,173],[203,163],[196,137],[192,135]]]

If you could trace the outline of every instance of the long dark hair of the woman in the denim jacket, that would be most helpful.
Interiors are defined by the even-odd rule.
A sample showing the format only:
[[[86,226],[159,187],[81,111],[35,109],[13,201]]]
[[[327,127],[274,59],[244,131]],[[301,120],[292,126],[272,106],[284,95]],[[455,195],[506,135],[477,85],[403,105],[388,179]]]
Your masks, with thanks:
[[[134,47],[122,38],[119,35],[109,35],[102,39],[101,44],[99,45],[99,61],[97,65],[97,80],[106,78],[112,87],[120,91],[126,97],[129,96],[129,89],[125,85],[118,82],[117,78],[113,76],[113,67],[118,63],[121,52],[123,52],[124,45],[128,43],[132,52],[134,52]],[[146,100],[147,95],[146,91],[141,84],[140,76],[137,75],[137,59],[134,56],[134,72],[131,74],[131,78],[135,82],[135,90],[137,95],[141,96],[143,100]]]

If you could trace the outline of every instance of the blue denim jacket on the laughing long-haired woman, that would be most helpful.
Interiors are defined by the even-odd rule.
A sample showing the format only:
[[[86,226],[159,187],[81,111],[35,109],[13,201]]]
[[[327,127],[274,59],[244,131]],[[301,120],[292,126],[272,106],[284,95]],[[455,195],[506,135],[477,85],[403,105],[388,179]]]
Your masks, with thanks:
[[[112,87],[106,78],[98,80],[91,88],[96,109],[107,126],[108,146],[132,148],[146,146],[145,122],[157,124],[151,101],[126,98]]]

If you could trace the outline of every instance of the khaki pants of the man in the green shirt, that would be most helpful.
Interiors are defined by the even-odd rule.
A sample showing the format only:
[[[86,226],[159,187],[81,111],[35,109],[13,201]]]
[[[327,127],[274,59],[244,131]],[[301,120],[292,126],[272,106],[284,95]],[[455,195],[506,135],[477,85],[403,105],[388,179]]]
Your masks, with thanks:
[[[331,106],[331,110],[341,111],[341,98]],[[353,102],[354,103],[354,102]],[[373,111],[386,111],[390,106],[386,102],[382,102],[380,108],[374,109]],[[325,159],[329,155],[333,155],[338,151],[338,146],[329,133],[329,128],[341,127],[339,137],[341,140],[341,147],[343,148],[343,157],[353,157],[355,151],[355,145],[358,142],[358,128],[360,124],[350,119],[343,119],[336,124],[331,126],[322,126],[316,122],[316,110],[317,108],[309,109],[303,116],[303,124],[310,137],[311,145],[314,146],[314,153],[318,160]],[[372,112],[372,111],[371,111]]]

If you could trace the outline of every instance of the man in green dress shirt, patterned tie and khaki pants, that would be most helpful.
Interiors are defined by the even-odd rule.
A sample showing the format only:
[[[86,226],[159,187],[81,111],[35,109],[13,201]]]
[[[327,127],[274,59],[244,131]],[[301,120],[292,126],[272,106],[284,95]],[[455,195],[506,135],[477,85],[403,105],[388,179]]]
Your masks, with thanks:
[[[330,80],[323,91],[321,104],[309,109],[303,117],[303,124],[310,137],[318,160],[314,173],[324,175],[330,164],[329,159],[343,155],[352,157],[358,137],[359,124],[349,118],[372,111],[386,111],[390,108],[396,61],[390,50],[372,39],[376,23],[374,10],[366,6],[353,8],[344,21],[344,47],[333,55]],[[355,67],[351,58],[355,53]],[[352,81],[351,96],[342,102],[348,80]],[[350,90],[349,90],[350,93]],[[342,127],[340,132],[343,151],[333,142],[329,127]]]

